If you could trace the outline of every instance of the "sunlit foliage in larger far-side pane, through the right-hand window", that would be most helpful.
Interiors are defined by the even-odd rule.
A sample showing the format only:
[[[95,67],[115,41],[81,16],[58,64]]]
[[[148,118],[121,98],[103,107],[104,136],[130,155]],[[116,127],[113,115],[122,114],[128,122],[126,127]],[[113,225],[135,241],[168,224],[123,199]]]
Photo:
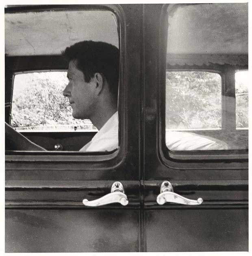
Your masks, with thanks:
[[[166,128],[221,128],[222,80],[204,71],[166,72]]]

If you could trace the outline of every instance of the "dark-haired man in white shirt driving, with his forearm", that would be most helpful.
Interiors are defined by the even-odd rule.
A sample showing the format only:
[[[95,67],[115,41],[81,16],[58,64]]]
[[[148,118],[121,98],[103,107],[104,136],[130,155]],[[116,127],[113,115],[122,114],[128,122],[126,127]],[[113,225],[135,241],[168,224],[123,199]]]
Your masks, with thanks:
[[[105,42],[78,42],[63,51],[68,62],[67,84],[72,115],[90,119],[98,133],[80,151],[111,151],[118,148],[119,51]],[[15,150],[45,150],[6,124],[6,135]]]

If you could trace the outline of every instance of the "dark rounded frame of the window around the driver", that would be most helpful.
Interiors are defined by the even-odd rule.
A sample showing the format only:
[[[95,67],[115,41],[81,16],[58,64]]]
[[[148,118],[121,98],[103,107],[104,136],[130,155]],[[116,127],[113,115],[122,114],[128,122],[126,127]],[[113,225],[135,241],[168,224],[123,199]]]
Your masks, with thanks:
[[[24,13],[24,12],[30,12],[30,11],[48,11],[48,10],[54,10],[54,11],[64,11],[64,10],[106,10],[111,11],[115,14],[117,18],[117,31],[118,31],[118,40],[119,40],[119,56],[120,56],[120,66],[119,66],[119,104],[118,104],[118,111],[119,111],[119,148],[117,150],[113,150],[111,152],[79,152],[79,151],[5,151],[6,154],[6,161],[12,162],[12,161],[24,161],[24,162],[65,162],[65,161],[78,161],[78,162],[87,162],[87,168],[89,170],[98,170],[103,169],[104,167],[100,166],[93,166],[92,164],[89,165],[89,163],[100,163],[100,162],[108,162],[109,167],[108,168],[115,168],[115,166],[122,163],[126,157],[126,125],[127,125],[127,119],[124,109],[126,108],[126,18],[124,11],[122,7],[114,4],[99,4],[99,5],[39,5],[39,6],[9,6],[5,9],[5,13]],[[40,62],[39,60],[42,60],[42,63],[46,63],[46,59],[48,56],[10,56],[6,57],[6,63],[10,66],[10,68],[7,68],[5,66],[5,73],[6,73],[6,83],[5,86],[10,90],[9,86],[11,86],[11,95],[6,96],[6,100],[8,104],[12,103],[12,95],[13,95],[13,74],[18,72],[32,72],[37,71],[38,69],[40,71],[46,71],[46,70],[54,70],[53,66],[56,65],[57,60],[60,58],[59,55],[50,55],[52,58],[52,64],[50,67],[43,67],[43,64],[41,65],[41,68],[38,66],[28,68],[27,64],[22,65],[22,60],[24,59],[30,59],[35,60],[36,62]],[[54,60],[55,58],[55,60]],[[66,63],[61,60],[58,66],[55,66],[55,70],[66,70],[67,66]],[[51,68],[52,66],[52,68]],[[8,111],[7,111],[8,113]],[[11,109],[10,112],[11,113]],[[10,117],[8,117],[8,114],[6,116],[6,121],[10,122]],[[106,168],[105,168],[106,169]]]

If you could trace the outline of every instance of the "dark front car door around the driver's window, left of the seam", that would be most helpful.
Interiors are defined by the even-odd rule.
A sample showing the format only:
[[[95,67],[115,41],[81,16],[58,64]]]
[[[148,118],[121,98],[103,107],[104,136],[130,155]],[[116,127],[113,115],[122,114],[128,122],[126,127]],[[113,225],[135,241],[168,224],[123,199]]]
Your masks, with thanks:
[[[53,13],[72,9],[105,9],[117,17],[120,49],[119,149],[105,153],[7,151],[6,252],[140,251],[139,34],[142,6],[10,6],[5,12],[41,14],[43,11]],[[19,25],[22,26],[21,23]],[[55,64],[53,57],[52,62]],[[21,57],[19,65],[22,65]],[[7,69],[6,102],[11,99],[12,75]],[[6,113],[8,121],[10,103],[6,106]],[[118,182],[122,183],[128,205],[83,205],[83,199],[93,201],[110,194],[114,182],[117,182],[116,187]]]

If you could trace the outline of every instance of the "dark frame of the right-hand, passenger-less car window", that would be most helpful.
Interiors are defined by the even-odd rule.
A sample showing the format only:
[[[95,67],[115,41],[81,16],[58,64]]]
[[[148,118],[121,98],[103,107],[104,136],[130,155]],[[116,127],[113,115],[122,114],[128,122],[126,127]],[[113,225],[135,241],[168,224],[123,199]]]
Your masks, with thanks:
[[[157,94],[157,106],[158,106],[158,121],[157,121],[157,148],[159,152],[159,158],[165,166],[174,169],[246,169],[248,168],[248,150],[192,150],[192,151],[172,151],[169,150],[165,143],[165,82],[166,82],[166,71],[211,71],[214,73],[219,73],[222,77],[222,130],[227,127],[225,117],[223,116],[223,109],[225,97],[228,96],[225,93],[227,90],[226,85],[228,84],[228,79],[230,79],[230,67],[228,68],[224,65],[210,64],[210,65],[184,65],[170,66],[167,64],[167,12],[168,4],[163,5],[161,17],[160,17],[160,31],[159,31],[159,86]],[[248,66],[238,66],[231,68],[233,72],[233,77],[235,76],[235,70],[248,69]],[[232,71],[234,70],[234,71]],[[235,80],[234,80],[235,81]],[[235,88],[235,82],[233,82],[233,87]],[[235,95],[235,89],[234,89]],[[234,108],[235,114],[235,108]],[[224,121],[226,122],[224,124]],[[202,160],[204,162],[202,162]],[[226,161],[228,160],[228,161]],[[181,163],[186,163],[181,165]]]

